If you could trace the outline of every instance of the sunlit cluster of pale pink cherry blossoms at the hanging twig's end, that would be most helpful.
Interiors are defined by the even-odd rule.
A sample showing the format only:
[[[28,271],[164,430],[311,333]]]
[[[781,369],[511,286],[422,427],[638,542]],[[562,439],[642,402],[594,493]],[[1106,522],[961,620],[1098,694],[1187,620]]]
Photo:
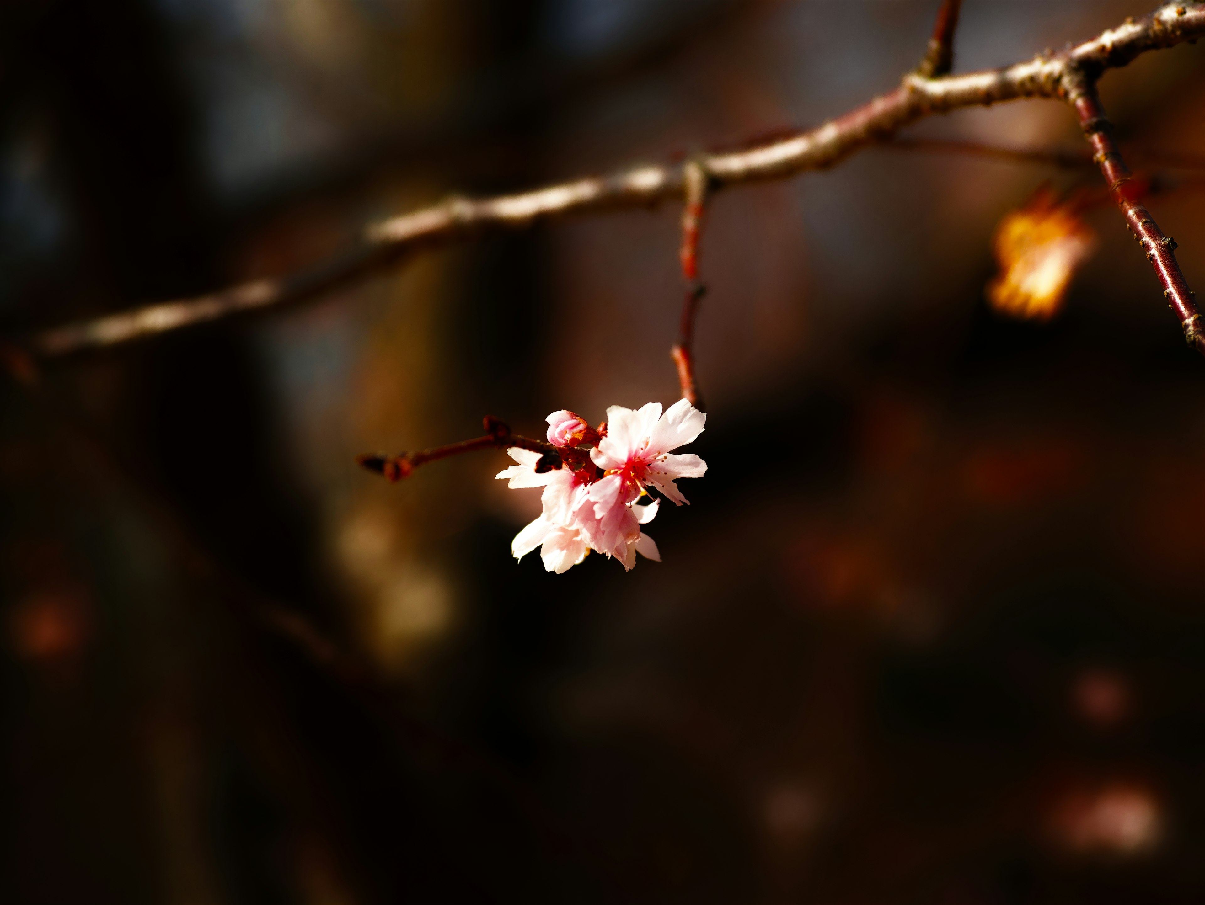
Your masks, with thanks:
[[[703,431],[706,416],[682,399],[662,415],[659,402],[639,411],[611,406],[607,424],[594,430],[574,412],[562,410],[548,416],[548,440],[557,446],[590,446],[590,462],[574,470],[568,465],[536,472],[541,454],[511,447],[518,464],[501,471],[509,487],[542,487],[543,511],[516,535],[511,552],[522,559],[541,547],[545,569],[557,574],[576,565],[590,551],[616,558],[625,570],[636,563],[636,553],[660,562],[657,543],[641,525],[657,516],[660,500],[637,505],[653,487],[682,505],[687,499],[674,482],[680,477],[703,477],[707,465],[698,456],[670,451],[689,443]]]

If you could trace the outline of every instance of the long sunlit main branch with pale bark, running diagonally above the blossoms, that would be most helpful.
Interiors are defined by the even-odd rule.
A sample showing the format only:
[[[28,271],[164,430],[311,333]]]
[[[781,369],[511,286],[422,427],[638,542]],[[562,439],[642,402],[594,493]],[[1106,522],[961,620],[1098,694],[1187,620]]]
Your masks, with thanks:
[[[931,113],[1019,98],[1058,98],[1078,108],[1078,99],[1087,96],[1084,86],[1094,84],[1106,69],[1124,66],[1147,51],[1201,36],[1205,36],[1205,5],[1169,4],[1091,41],[1012,66],[941,78],[910,74],[899,88],[817,129],[739,152],[705,155],[699,161],[709,174],[711,189],[716,190],[831,166]],[[465,239],[492,229],[521,229],[576,211],[639,207],[682,198],[683,170],[684,165],[637,166],[522,194],[478,200],[452,198],[369,227],[355,249],[313,270],[60,327],[13,345],[35,358],[54,358],[118,346],[245,311],[283,306],[393,265],[402,252],[422,245]],[[1157,271],[1160,280],[1165,272],[1171,280],[1171,271],[1164,265],[1157,264]],[[1178,269],[1175,274],[1178,275]],[[1176,280],[1171,282],[1180,287],[1182,277]],[[1191,298],[1187,292],[1185,287],[1174,293],[1185,311],[1192,310],[1191,302],[1181,299],[1181,295]]]

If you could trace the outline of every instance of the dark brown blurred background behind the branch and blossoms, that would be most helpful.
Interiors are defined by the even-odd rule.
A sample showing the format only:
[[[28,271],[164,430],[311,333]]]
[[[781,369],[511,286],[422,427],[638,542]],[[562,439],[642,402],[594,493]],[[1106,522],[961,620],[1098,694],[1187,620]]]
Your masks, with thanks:
[[[1136,0],[968,0],[956,70]],[[374,219],[813,125],[936,0],[17,0],[6,333],[283,274]],[[1200,153],[1205,52],[1101,84]],[[912,139],[1081,151],[1059,104]],[[1150,206],[1205,286],[1201,195]],[[871,148],[724,192],[707,476],[564,576],[501,453],[677,396],[675,205],[416,257],[0,388],[6,903],[1147,903],[1205,894],[1205,363],[1119,216],[1045,323],[997,223],[1091,170]]]

